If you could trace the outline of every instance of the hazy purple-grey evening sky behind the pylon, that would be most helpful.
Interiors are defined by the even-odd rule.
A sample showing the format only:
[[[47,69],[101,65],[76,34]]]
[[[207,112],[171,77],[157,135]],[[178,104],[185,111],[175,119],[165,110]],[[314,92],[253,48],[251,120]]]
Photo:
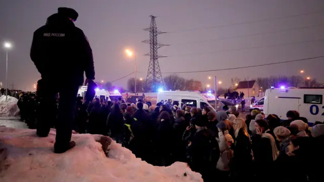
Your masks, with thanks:
[[[40,78],[29,58],[32,33],[58,7],[70,7],[79,13],[75,25],[84,30],[90,41],[97,80],[111,81],[134,71],[134,61],[123,55],[126,47],[136,50],[138,71],[142,71],[138,77],[146,78],[149,57],[142,55],[149,52],[149,45],[140,41],[149,39],[149,33],[142,29],[149,26],[151,14],[158,17],[156,24],[160,30],[170,32],[158,37],[160,43],[172,45],[159,49],[159,54],[169,56],[159,59],[162,72],[222,69],[324,55],[322,0],[0,0],[0,40],[14,43],[9,53],[9,85],[14,83],[15,88],[32,90]],[[306,15],[293,16],[300,14]],[[221,26],[229,24],[234,25]],[[219,27],[205,28],[212,26]],[[185,31],[188,29],[191,30]],[[275,32],[258,34],[272,31]],[[257,35],[223,39],[250,34]],[[189,44],[197,41],[201,42]],[[251,47],[261,48],[245,49]],[[3,83],[5,58],[5,52],[0,51],[0,82]],[[298,75],[304,69],[305,77],[324,82],[323,63],[324,58],[319,58],[179,75],[200,80],[204,85],[212,84],[208,76],[217,76],[223,86],[229,86],[234,77]],[[113,84],[126,87],[127,79]]]

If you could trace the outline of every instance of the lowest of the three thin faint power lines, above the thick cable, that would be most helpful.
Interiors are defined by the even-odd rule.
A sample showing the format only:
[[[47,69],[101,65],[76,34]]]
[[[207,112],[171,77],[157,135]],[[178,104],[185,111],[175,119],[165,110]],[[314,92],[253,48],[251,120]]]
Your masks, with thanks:
[[[268,45],[268,46],[257,46],[257,47],[249,47],[249,48],[240,48],[240,49],[228,49],[228,50],[219,50],[219,51],[210,51],[210,52],[179,54],[179,55],[171,55],[169,57],[201,55],[201,54],[212,54],[212,53],[228,52],[228,51],[241,51],[241,50],[249,50],[249,49],[259,49],[259,48],[266,48],[266,47],[276,47],[276,46],[292,45],[292,44],[299,44],[299,43],[309,43],[309,42],[316,42],[316,41],[324,41],[324,39],[310,40],[310,41],[300,41],[300,42],[294,42],[294,43],[274,44],[274,45]]]

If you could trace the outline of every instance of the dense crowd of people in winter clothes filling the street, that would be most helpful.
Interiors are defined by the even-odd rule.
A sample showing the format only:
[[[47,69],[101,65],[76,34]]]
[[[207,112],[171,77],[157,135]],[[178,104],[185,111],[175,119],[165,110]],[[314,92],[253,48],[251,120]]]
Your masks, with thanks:
[[[23,95],[19,102],[22,119],[33,127],[36,97]],[[77,97],[74,116],[75,133],[110,136],[153,165],[186,162],[205,181],[265,177],[317,181],[321,177],[324,124],[316,121],[308,127],[307,119],[296,111],[288,111],[288,120],[281,122],[274,114],[264,119],[258,110],[239,118],[234,106],[215,113],[210,107],[180,108],[177,101],[154,106],[142,100],[95,98],[85,104],[83,97]]]

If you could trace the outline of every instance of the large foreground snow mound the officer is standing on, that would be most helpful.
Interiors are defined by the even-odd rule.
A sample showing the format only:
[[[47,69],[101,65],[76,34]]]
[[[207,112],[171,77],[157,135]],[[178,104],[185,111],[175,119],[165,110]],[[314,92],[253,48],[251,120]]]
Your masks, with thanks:
[[[185,163],[152,166],[102,135],[73,134],[76,146],[55,154],[55,135],[55,129],[39,138],[35,130],[0,127],[0,181],[203,181]]]

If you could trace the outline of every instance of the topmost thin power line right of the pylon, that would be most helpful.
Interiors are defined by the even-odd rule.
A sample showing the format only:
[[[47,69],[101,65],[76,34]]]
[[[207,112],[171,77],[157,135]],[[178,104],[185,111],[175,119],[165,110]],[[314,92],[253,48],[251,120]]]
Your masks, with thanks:
[[[179,33],[179,32],[195,31],[195,30],[201,30],[201,29],[210,29],[210,28],[219,28],[219,27],[225,27],[225,26],[257,23],[257,22],[263,22],[263,21],[269,21],[269,20],[277,20],[277,19],[283,19],[283,18],[291,18],[291,17],[298,17],[298,16],[304,16],[304,15],[317,14],[317,13],[321,13],[321,12],[324,12],[324,10],[320,10],[320,11],[316,11],[316,12],[303,13],[303,14],[297,14],[297,15],[289,15],[289,16],[284,16],[284,17],[267,18],[267,19],[256,20],[256,21],[246,21],[246,22],[231,23],[231,24],[225,24],[225,25],[216,25],[216,26],[209,26],[209,27],[202,27],[202,28],[183,29],[183,30],[179,30],[179,31],[169,31],[168,33]]]

